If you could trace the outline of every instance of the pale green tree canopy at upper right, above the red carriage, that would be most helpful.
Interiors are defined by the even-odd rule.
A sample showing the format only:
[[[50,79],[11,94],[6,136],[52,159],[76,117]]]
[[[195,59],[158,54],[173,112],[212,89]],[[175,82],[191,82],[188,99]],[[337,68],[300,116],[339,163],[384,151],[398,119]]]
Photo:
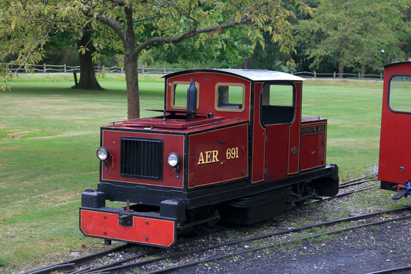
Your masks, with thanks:
[[[313,59],[311,67],[334,59],[342,76],[345,67],[381,64],[383,52],[401,54],[399,43],[410,33],[402,20],[403,0],[320,0],[313,18],[300,21],[298,42]]]

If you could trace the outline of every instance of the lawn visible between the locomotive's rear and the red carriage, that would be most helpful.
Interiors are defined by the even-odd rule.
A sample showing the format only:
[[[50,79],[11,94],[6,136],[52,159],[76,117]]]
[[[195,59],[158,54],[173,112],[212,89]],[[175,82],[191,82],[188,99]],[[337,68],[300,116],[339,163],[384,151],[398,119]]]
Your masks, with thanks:
[[[331,85],[305,82],[303,115],[327,118],[327,163],[339,165],[341,178],[359,176],[378,165],[383,84],[325,82]]]

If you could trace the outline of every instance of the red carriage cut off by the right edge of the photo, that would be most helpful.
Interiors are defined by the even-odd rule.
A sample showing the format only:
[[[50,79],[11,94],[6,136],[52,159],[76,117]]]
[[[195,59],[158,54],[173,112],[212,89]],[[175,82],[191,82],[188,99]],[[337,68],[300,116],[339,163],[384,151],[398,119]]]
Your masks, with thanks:
[[[398,200],[411,195],[411,62],[384,67],[378,179],[381,188],[396,191]]]

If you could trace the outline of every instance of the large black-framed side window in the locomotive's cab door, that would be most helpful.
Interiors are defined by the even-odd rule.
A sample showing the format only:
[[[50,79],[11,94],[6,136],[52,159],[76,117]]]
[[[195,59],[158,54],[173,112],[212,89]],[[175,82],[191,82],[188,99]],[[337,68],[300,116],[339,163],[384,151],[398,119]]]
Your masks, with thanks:
[[[294,86],[266,84],[261,90],[263,125],[291,123],[294,120]]]

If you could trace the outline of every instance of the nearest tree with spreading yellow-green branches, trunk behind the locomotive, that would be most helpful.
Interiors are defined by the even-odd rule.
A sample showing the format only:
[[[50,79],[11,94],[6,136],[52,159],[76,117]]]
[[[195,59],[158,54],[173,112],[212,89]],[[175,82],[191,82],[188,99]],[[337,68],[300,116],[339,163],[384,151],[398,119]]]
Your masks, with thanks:
[[[303,0],[292,2],[298,12],[310,12]],[[86,28],[100,30],[99,35],[91,35],[91,42],[96,49],[110,47],[124,53],[128,118],[138,118],[137,60],[143,50],[188,38],[205,45],[210,33],[247,25],[253,46],[264,46],[262,33],[266,32],[279,50],[288,53],[294,45],[288,21],[293,17],[295,13],[282,0],[6,0],[0,4],[0,62],[5,64],[6,57],[12,56],[21,66],[35,63],[52,35],[72,31],[80,38]],[[8,79],[5,65],[0,76]]]

